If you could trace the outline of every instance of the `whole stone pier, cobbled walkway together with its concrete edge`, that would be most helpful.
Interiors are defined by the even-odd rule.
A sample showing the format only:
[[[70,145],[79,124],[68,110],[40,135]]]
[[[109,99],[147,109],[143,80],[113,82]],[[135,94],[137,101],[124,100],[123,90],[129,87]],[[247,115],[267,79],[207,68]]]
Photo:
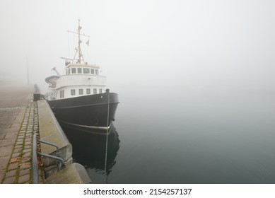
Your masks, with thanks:
[[[73,148],[39,92],[34,86],[0,86],[0,182],[90,183],[85,168],[72,163]],[[43,154],[38,154],[37,161],[34,136],[38,137],[37,151]],[[59,148],[58,154],[50,144]],[[47,155],[59,156],[66,166],[59,170],[57,161]]]

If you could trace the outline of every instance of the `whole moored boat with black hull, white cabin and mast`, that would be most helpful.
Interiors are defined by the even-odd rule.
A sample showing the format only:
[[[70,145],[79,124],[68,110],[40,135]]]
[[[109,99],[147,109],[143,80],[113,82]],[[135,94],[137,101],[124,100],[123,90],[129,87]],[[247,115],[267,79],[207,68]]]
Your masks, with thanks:
[[[80,21],[78,31],[78,47],[74,59],[66,59],[64,75],[59,74],[45,78],[48,92],[45,99],[52,108],[60,124],[80,129],[83,132],[107,134],[119,104],[118,94],[111,93],[106,88],[106,76],[100,76],[98,64],[88,64],[84,61],[81,51]],[[88,42],[86,44],[88,45]],[[110,130],[111,131],[111,130]]]

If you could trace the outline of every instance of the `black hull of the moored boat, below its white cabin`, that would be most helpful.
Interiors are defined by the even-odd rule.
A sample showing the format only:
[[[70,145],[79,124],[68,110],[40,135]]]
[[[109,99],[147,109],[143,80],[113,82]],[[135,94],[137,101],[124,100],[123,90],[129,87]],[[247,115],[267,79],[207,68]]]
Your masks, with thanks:
[[[76,98],[48,100],[57,120],[83,130],[105,130],[115,120],[119,103],[117,93],[100,93]],[[107,115],[109,106],[109,116]],[[109,119],[107,120],[107,117]]]

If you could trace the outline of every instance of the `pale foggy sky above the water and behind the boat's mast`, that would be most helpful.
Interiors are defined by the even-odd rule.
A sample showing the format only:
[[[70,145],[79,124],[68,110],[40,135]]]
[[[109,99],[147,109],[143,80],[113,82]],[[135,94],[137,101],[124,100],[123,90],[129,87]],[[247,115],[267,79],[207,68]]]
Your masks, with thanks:
[[[78,18],[87,62],[124,88],[274,91],[275,1],[1,1],[0,83],[47,91],[74,56]],[[85,44],[86,38],[82,38]]]

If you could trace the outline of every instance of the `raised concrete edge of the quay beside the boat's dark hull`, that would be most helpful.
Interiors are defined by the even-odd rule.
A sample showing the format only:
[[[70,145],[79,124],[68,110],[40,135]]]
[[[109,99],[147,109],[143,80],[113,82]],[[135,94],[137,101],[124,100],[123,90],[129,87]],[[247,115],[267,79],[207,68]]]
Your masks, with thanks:
[[[49,184],[81,184],[92,183],[83,165],[72,163],[73,148],[60,127],[47,100],[37,101],[39,115],[40,140],[56,144],[59,147],[60,157],[66,168],[57,170],[57,161],[42,156],[45,170],[45,183]],[[56,156],[57,148],[41,143],[41,152]]]

